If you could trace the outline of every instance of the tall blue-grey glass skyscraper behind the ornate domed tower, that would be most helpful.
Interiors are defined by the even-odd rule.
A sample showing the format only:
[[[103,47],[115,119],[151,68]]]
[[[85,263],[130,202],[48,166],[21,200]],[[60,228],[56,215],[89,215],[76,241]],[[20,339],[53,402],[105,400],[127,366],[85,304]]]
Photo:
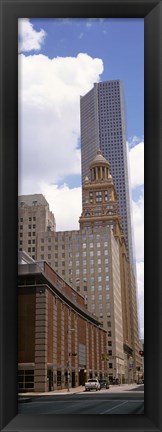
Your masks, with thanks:
[[[119,213],[133,266],[131,208],[129,192],[126,121],[123,86],[120,80],[95,83],[80,98],[82,185],[89,176],[90,162],[100,148],[110,162],[111,175],[117,192]]]

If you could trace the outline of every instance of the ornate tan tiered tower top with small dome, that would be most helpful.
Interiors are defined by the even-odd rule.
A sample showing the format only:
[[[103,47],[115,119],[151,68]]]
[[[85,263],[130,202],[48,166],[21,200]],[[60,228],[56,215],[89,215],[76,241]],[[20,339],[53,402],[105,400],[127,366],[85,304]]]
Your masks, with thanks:
[[[100,150],[90,163],[90,180],[86,177],[84,181],[83,211],[79,222],[81,229],[109,226],[115,236],[123,238],[110,164]]]

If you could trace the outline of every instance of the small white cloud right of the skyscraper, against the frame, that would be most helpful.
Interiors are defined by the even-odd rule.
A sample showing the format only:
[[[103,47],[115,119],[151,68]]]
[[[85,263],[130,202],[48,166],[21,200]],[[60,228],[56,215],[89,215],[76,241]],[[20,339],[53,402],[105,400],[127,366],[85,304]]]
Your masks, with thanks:
[[[144,142],[130,149],[129,160],[131,187],[135,189],[144,183]]]

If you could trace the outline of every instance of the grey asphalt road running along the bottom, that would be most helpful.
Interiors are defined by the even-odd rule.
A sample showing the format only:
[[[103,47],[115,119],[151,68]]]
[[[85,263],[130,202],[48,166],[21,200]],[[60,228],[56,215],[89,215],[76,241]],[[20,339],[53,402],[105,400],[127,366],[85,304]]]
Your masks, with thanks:
[[[144,414],[144,386],[111,393],[81,392],[52,396],[34,396],[19,404],[19,414]]]

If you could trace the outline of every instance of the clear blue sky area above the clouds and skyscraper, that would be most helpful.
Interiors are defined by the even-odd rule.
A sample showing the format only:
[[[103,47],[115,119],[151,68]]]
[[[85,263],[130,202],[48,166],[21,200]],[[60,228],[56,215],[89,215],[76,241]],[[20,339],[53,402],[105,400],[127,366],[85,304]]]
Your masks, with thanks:
[[[139,19],[31,19],[47,37],[41,53],[49,58],[78,52],[102,58],[102,81],[124,84],[128,137],[144,134],[144,20]],[[134,121],[135,118],[135,121]]]

